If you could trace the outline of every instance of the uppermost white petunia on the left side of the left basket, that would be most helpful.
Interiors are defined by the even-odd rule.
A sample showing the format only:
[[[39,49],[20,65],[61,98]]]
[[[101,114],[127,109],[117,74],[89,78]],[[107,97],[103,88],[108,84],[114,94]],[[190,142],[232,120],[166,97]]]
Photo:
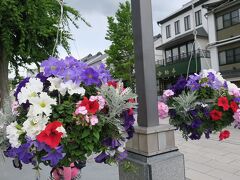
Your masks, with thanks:
[[[31,100],[38,96],[38,93],[42,92],[43,83],[38,78],[30,78],[26,86],[18,93],[19,104],[26,103],[27,100]]]

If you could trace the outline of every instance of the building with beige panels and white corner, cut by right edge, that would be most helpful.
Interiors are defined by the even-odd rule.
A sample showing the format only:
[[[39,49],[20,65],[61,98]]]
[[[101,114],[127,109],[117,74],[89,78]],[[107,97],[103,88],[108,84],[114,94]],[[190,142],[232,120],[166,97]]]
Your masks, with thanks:
[[[240,86],[240,0],[215,0],[204,7],[213,68]]]

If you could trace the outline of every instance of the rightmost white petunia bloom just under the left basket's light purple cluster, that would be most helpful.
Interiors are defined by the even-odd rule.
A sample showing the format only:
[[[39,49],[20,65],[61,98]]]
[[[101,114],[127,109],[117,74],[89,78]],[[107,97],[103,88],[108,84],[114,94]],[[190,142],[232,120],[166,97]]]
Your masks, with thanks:
[[[84,96],[85,94],[85,89],[73,83],[71,80],[67,81],[66,83],[61,83],[61,87],[63,89],[66,88],[70,95],[80,94],[81,96]]]

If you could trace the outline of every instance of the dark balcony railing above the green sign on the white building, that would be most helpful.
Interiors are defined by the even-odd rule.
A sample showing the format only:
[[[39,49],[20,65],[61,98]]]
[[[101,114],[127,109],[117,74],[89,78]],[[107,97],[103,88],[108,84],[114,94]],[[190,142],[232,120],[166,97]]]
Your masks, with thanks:
[[[195,58],[197,55],[198,58],[210,58],[210,52],[207,50],[196,50],[193,52],[192,57]],[[182,53],[178,56],[172,56],[166,59],[161,59],[156,61],[156,65],[167,66],[170,64],[179,63],[181,61],[186,61],[191,58],[191,53]]]

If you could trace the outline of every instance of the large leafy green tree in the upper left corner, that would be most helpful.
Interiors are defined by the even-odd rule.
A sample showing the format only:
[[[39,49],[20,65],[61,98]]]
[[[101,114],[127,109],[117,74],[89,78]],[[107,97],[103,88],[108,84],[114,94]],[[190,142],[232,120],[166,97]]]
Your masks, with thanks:
[[[19,75],[19,67],[36,64],[52,55],[60,23],[60,0],[0,0],[0,102],[8,96],[8,72],[11,66]],[[79,12],[64,5],[61,22],[62,45],[69,52],[71,34],[66,30],[82,19]],[[84,20],[84,19],[82,19]],[[57,51],[54,55],[57,55]],[[0,103],[1,104],[1,103]],[[1,106],[0,106],[1,107]]]

